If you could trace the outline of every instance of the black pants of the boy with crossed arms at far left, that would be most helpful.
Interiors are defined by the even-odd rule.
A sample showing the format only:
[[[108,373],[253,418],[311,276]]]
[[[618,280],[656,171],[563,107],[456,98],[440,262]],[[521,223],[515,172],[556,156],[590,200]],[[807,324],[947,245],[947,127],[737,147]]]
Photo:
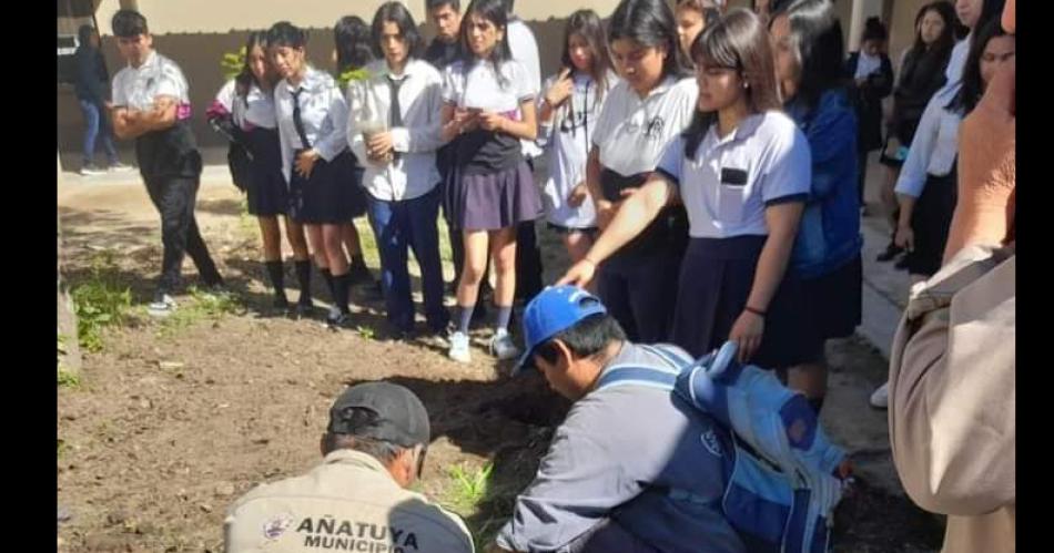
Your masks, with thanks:
[[[220,272],[209,256],[209,248],[201,238],[197,221],[194,218],[194,204],[197,199],[197,177],[155,177],[144,178],[146,193],[161,214],[161,243],[164,257],[161,262],[161,279],[158,288],[164,293],[174,291],[180,284],[183,255],[189,254],[202,281],[209,286],[220,283]]]

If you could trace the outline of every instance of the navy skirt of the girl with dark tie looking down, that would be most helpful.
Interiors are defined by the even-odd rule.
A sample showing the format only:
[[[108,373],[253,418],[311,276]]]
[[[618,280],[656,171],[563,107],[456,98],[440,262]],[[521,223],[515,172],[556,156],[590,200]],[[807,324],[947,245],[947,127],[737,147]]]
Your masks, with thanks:
[[[290,178],[290,216],[307,225],[339,225],[366,213],[363,171],[347,151],[332,162],[320,158],[311,176],[294,168]]]

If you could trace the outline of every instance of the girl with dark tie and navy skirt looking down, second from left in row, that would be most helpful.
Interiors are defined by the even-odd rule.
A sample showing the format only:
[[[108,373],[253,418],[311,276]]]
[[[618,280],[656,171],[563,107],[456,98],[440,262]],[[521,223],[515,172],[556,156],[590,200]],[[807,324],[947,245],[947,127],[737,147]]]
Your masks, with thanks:
[[[282,172],[290,186],[290,216],[305,225],[315,264],[333,295],[326,317],[346,326],[348,262],[344,226],[352,218],[353,183],[343,178],[347,156],[347,105],[336,82],[307,64],[304,31],[287,21],[267,31],[267,51],[282,78],[274,103],[282,143]]]

